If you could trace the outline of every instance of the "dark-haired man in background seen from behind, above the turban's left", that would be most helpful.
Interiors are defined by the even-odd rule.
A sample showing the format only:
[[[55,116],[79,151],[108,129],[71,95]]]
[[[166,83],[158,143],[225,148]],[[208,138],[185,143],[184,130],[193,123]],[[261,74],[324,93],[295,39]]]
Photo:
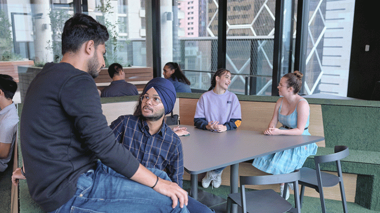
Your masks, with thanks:
[[[136,86],[125,81],[125,72],[120,64],[109,65],[108,74],[112,78],[112,82],[101,91],[100,97],[139,95]]]

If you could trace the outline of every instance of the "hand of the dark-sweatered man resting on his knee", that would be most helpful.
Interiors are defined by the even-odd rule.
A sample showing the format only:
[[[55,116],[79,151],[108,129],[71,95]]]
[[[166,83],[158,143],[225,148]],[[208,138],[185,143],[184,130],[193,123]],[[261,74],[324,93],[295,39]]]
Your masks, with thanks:
[[[178,205],[178,200],[181,208],[188,205],[188,192],[179,187],[177,183],[159,178],[157,185],[153,189],[162,195],[170,197],[173,201],[173,209]]]

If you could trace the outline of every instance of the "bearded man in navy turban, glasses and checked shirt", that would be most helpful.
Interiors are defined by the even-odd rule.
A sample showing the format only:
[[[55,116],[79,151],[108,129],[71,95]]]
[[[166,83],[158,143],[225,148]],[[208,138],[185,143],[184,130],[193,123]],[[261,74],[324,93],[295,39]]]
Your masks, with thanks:
[[[167,175],[160,178],[182,187],[182,143],[164,122],[164,115],[172,112],[176,98],[169,80],[153,78],[146,84],[134,114],[119,116],[110,127],[116,141],[127,147],[142,165],[166,171]],[[190,213],[214,212],[191,197],[187,207]]]

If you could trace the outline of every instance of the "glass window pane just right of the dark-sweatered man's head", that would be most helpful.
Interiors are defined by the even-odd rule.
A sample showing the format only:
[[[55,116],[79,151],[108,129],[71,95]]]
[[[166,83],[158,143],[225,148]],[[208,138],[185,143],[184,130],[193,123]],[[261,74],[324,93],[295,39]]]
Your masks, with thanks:
[[[144,5],[144,0],[96,0],[90,15],[104,24],[110,34],[106,66],[115,62],[122,66],[146,66]]]

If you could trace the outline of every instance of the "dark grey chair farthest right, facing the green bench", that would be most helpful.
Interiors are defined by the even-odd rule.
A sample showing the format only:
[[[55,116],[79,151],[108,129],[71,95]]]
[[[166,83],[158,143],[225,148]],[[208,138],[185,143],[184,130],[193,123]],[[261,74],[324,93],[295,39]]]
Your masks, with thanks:
[[[326,213],[325,198],[323,196],[323,187],[332,187],[337,184],[340,186],[340,195],[342,198],[343,212],[347,213],[347,203],[346,196],[344,194],[343,178],[342,178],[342,168],[340,166],[340,160],[347,157],[349,154],[348,147],[346,146],[335,146],[334,154],[315,156],[315,168],[311,169],[307,167],[300,168],[301,179],[299,184],[301,185],[301,194],[299,199],[302,207],[303,193],[305,191],[305,186],[315,189],[319,193],[321,199],[322,212]],[[336,163],[336,170],[338,176],[323,172],[320,169],[320,163],[333,162]]]

